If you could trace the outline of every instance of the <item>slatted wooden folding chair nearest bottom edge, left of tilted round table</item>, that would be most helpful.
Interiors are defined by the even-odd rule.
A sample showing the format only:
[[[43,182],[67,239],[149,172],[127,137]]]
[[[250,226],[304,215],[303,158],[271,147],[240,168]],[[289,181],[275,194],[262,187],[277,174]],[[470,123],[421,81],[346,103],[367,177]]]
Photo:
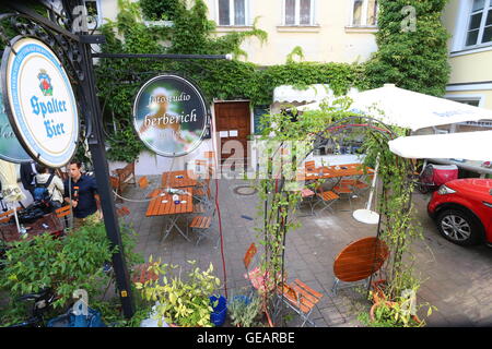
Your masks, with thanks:
[[[306,323],[316,326],[309,316],[324,297],[323,293],[315,291],[300,279],[295,279],[290,285],[283,285],[282,291],[279,288],[279,294],[283,302],[304,320],[301,327],[304,327]]]

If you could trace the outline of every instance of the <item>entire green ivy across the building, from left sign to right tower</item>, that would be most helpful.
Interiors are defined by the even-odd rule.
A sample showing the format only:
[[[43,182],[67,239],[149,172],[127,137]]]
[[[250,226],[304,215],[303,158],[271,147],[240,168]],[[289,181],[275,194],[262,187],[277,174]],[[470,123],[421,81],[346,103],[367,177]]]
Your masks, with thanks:
[[[165,1],[166,3],[168,1]],[[443,95],[448,79],[446,38],[440,22],[446,0],[383,0],[380,1],[379,51],[365,63],[295,62],[292,58],[282,65],[259,67],[239,60],[148,60],[101,59],[97,87],[107,123],[116,123],[116,133],[108,137],[109,159],[134,159],[142,144],[131,128],[132,101],[145,80],[162,72],[178,72],[194,80],[209,101],[216,99],[250,99],[251,107],[270,105],[273,89],[280,85],[298,88],[311,84],[328,84],[337,95],[350,87],[366,89],[384,83],[396,83],[432,95]],[[152,4],[141,1],[145,16]],[[417,31],[403,31],[402,9],[408,3],[417,11]],[[115,22],[102,32],[107,44],[104,52],[128,53],[246,53],[241,44],[247,37],[268,40],[267,33],[256,25],[248,32],[213,35],[215,24],[207,19],[207,5],[196,0],[187,9],[183,0],[175,0],[172,27],[147,27],[138,2],[118,0],[119,13]],[[159,11],[157,11],[159,12]],[[155,12],[155,13],[157,13]],[[161,15],[162,17],[162,15]],[[156,19],[156,17],[155,17]],[[302,58],[302,52],[293,52]],[[109,122],[110,121],[110,122]]]

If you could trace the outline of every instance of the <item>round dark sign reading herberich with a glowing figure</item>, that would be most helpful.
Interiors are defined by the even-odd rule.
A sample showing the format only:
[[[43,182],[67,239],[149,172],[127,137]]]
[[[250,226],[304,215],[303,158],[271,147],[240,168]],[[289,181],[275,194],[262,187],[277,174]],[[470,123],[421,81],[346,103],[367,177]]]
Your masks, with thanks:
[[[149,80],[137,94],[133,125],[154,153],[183,156],[195,151],[207,130],[207,105],[200,91],[178,75]]]

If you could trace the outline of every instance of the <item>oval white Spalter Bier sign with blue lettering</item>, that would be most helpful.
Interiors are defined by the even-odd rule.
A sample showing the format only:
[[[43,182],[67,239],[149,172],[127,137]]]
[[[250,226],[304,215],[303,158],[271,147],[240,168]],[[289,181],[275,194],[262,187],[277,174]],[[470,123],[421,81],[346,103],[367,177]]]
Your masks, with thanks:
[[[21,38],[5,49],[2,70],[4,104],[20,143],[40,164],[66,165],[77,148],[79,115],[60,60],[42,41]]]

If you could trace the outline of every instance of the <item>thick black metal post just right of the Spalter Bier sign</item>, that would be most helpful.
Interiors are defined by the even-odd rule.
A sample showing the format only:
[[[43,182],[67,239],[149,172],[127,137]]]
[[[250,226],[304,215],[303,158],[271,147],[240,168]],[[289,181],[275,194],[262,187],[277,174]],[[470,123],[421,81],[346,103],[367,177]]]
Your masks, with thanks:
[[[87,44],[80,44],[82,52],[82,68],[85,79],[82,81],[82,88],[86,98],[86,122],[92,123],[92,132],[89,134],[89,148],[94,164],[95,178],[97,181],[97,192],[101,197],[101,208],[104,215],[106,233],[113,246],[118,248],[118,252],[113,254],[113,268],[116,276],[116,287],[121,301],[124,315],[130,318],[134,313],[134,302],[130,287],[130,277],[125,261],[125,251],[119,230],[118,218],[116,216],[113,190],[109,184],[109,169],[107,167],[106,149],[103,139],[102,113],[95,92],[94,69],[92,65],[91,48]]]

